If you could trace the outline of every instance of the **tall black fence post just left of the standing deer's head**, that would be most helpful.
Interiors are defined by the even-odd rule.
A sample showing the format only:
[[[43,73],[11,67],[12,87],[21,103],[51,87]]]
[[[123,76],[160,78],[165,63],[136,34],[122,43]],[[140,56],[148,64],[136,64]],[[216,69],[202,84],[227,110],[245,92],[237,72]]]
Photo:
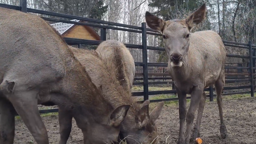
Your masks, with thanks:
[[[146,23],[141,23],[142,27],[142,62],[143,62],[143,96],[144,101],[148,99],[148,70],[147,70],[147,27]]]

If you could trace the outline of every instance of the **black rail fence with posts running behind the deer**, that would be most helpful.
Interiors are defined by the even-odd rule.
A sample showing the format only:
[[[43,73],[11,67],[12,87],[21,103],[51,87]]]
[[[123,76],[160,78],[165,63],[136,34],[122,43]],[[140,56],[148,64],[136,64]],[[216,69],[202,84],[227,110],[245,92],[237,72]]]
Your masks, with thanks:
[[[49,16],[56,16],[56,17],[62,17],[62,18],[69,18],[69,19],[78,19],[82,21],[92,22],[92,23],[98,23],[98,24],[91,24],[91,23],[84,23],[84,22],[76,22],[76,21],[69,21],[69,20],[63,20],[63,19],[57,19],[57,18],[48,18],[48,17],[41,17],[44,20],[47,21],[55,21],[55,22],[61,22],[61,23],[69,23],[69,24],[76,24],[76,25],[85,25],[85,26],[91,26],[91,27],[98,27],[100,28],[100,37],[101,40],[106,40],[106,29],[113,29],[113,30],[121,30],[121,31],[128,31],[128,32],[136,32],[142,34],[142,45],[134,45],[134,44],[125,44],[127,48],[135,48],[135,49],[142,49],[142,55],[143,55],[143,62],[135,62],[135,66],[141,66],[143,67],[143,92],[133,92],[133,96],[143,96],[144,101],[148,99],[149,95],[158,95],[158,94],[172,94],[176,93],[175,87],[173,86],[173,90],[167,90],[167,91],[148,91],[148,67],[167,67],[166,63],[148,63],[147,62],[147,50],[160,50],[165,51],[163,47],[153,47],[153,46],[147,46],[147,35],[156,35],[161,36],[157,31],[146,28],[146,23],[142,23],[141,27],[138,26],[132,26],[132,25],[126,25],[126,24],[119,24],[119,23],[113,23],[109,21],[103,21],[98,19],[91,19],[91,18],[85,18],[80,16],[73,16],[73,15],[67,15],[67,14],[60,14],[55,12],[48,12],[44,10],[37,10],[37,9],[31,9],[27,8],[27,1],[26,0],[20,0],[20,6],[14,6],[14,5],[7,5],[7,4],[0,4],[0,7],[20,10],[22,12],[30,12],[30,13],[37,13],[37,14],[43,14],[43,15],[49,15]],[[118,27],[114,27],[118,26]],[[124,27],[124,28],[120,28]],[[87,45],[99,45],[102,41],[96,41],[96,40],[86,40],[86,39],[76,39],[76,38],[64,38],[65,41],[68,44],[87,44]],[[250,79],[247,81],[250,81],[250,85],[245,86],[227,86],[224,87],[223,90],[233,90],[233,89],[246,89],[250,88],[250,91],[245,92],[233,92],[233,93],[223,93],[223,95],[233,95],[233,94],[244,94],[244,93],[251,93],[251,96],[254,96],[254,86],[255,85],[255,50],[256,46],[252,45],[252,42],[249,41],[248,43],[239,43],[239,42],[232,42],[232,41],[226,41],[223,40],[223,43],[225,46],[230,47],[237,47],[237,48],[244,48],[249,50],[249,56],[242,56],[242,55],[235,55],[235,54],[227,54],[227,57],[234,57],[234,58],[246,58],[249,59],[248,67],[229,67],[226,66],[225,69],[248,69],[250,76]],[[158,77],[159,78],[159,77]],[[228,78],[228,77],[226,77]],[[160,78],[161,79],[161,78]],[[170,78],[167,78],[170,79]],[[227,80],[228,81],[228,80]],[[229,80],[232,82],[238,82],[237,80]],[[172,82],[174,83],[174,82]],[[215,88],[212,86],[209,88],[205,88],[204,91],[209,91],[208,97],[210,97],[210,101],[213,101],[213,91]],[[189,99],[190,97],[187,97]],[[150,102],[160,102],[160,101],[174,101],[178,100],[178,98],[165,98],[165,99],[153,99],[150,100]],[[138,101],[142,103],[143,101]],[[40,110],[40,113],[52,113],[52,112],[58,112],[58,109],[47,109],[47,110]]]

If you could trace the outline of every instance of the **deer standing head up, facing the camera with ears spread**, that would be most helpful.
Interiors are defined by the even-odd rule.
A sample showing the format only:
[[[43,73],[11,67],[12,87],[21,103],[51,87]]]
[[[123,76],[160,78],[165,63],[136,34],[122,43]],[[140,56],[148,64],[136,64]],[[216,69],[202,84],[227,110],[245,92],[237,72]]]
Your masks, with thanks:
[[[225,47],[220,36],[212,30],[190,33],[192,28],[201,23],[205,13],[205,4],[183,20],[164,21],[149,12],[145,13],[147,25],[162,33],[165,50],[169,57],[168,72],[175,81],[179,98],[178,143],[189,143],[190,130],[197,107],[198,115],[192,135],[194,140],[200,136],[200,123],[206,101],[204,88],[213,84],[215,84],[219,106],[221,138],[227,137],[221,97],[225,83]],[[191,100],[186,114],[187,94],[191,94]],[[184,141],[185,118],[187,128]]]

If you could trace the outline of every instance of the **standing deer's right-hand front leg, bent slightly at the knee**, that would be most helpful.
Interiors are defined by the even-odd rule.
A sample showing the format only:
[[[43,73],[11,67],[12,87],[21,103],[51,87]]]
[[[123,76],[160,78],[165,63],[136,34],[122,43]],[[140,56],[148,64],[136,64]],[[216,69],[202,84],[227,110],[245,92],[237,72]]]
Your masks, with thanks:
[[[203,87],[203,88],[201,88]],[[204,92],[204,86],[196,86],[191,93],[190,105],[186,114],[187,128],[185,133],[185,143],[189,143],[190,130],[195,118],[195,112],[201,101],[202,93]]]

